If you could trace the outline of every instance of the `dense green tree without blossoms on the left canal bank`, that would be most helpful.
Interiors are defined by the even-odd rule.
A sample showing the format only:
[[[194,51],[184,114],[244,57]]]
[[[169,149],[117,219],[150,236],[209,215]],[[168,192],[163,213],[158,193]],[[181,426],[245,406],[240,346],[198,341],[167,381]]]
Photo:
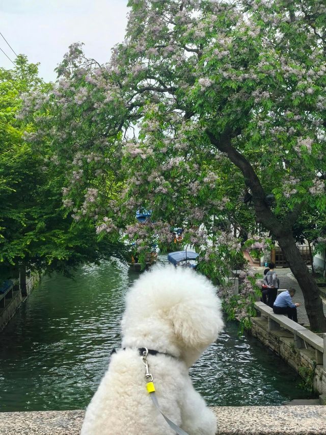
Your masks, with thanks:
[[[11,70],[0,68],[0,283],[18,269],[24,285],[26,268],[69,274],[77,265],[124,253],[117,239],[98,240],[88,220],[73,220],[62,203],[66,168],[45,142],[36,148],[23,140],[35,127],[18,114],[21,95],[34,90],[44,101],[47,89],[38,65],[25,56]],[[93,197],[90,190],[89,201]]]

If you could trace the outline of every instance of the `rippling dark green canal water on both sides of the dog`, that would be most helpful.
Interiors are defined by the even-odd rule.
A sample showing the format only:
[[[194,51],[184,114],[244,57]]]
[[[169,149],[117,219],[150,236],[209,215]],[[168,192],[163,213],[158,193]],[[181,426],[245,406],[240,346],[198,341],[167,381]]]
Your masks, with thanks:
[[[120,345],[124,296],[138,276],[113,260],[69,279],[43,277],[0,336],[0,411],[85,408]],[[210,405],[276,405],[308,398],[300,377],[229,322],[191,369]]]

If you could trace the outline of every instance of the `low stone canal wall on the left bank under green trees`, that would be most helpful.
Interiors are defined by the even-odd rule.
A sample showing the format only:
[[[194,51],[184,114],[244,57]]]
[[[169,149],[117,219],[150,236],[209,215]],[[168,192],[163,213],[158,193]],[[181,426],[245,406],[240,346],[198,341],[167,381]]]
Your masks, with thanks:
[[[21,302],[23,302],[26,297],[29,296],[39,281],[40,274],[37,272],[32,273],[31,276],[26,277],[26,283],[23,291],[19,285],[19,280],[14,282],[12,297],[6,297],[4,304],[5,306],[0,310],[0,333],[4,330],[10,319],[14,316]]]

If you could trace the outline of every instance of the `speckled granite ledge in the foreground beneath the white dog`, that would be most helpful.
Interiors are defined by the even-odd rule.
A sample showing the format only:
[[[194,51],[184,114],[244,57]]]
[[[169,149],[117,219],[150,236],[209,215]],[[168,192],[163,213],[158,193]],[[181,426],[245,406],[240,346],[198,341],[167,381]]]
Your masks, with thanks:
[[[220,406],[212,409],[219,423],[216,435],[326,435],[326,406]],[[77,435],[83,417],[84,411],[79,410],[0,413],[0,433]]]

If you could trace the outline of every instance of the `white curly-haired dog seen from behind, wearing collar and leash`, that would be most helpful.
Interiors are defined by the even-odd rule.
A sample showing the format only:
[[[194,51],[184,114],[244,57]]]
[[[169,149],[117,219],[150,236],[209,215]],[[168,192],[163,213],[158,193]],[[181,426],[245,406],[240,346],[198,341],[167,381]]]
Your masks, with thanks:
[[[224,326],[215,293],[208,279],[186,268],[141,275],[126,297],[122,348],[87,408],[81,435],[177,433],[146,389],[143,348],[161,412],[189,435],[215,434],[215,417],[188,374]]]

